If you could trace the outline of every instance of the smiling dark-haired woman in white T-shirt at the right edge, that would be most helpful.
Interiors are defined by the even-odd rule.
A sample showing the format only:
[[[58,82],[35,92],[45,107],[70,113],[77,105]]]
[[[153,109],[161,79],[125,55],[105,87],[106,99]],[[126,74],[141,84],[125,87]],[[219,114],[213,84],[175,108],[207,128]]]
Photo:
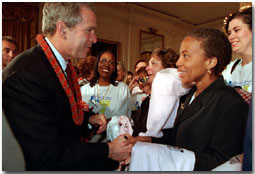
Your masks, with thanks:
[[[228,85],[252,92],[252,8],[229,15],[225,22],[232,50],[241,59],[231,62],[222,74]]]

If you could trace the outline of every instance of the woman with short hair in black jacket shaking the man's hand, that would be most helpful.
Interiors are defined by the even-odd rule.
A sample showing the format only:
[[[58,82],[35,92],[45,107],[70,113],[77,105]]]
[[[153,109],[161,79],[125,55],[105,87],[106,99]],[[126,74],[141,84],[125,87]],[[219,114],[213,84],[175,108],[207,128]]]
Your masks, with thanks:
[[[203,171],[242,153],[248,105],[220,75],[231,53],[228,39],[217,29],[188,33],[176,65],[182,83],[195,86],[182,97],[174,127],[165,130],[163,138],[128,137],[125,143],[147,141],[185,148],[194,152],[194,170]]]

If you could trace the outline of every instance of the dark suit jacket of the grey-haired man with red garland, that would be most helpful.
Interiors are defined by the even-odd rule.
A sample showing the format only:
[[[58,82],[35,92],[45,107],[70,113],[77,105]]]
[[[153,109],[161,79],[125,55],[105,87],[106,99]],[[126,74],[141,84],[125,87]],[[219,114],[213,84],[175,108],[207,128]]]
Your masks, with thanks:
[[[62,86],[40,46],[3,72],[3,109],[24,152],[27,170],[104,170],[108,145],[81,142]]]

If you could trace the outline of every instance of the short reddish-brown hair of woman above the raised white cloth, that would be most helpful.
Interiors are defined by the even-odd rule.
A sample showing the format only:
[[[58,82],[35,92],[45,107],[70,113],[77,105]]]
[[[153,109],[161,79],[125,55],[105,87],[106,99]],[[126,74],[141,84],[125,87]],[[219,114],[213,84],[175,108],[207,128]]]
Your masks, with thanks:
[[[151,53],[153,55],[160,58],[164,68],[177,68],[179,55],[172,48],[157,48]]]

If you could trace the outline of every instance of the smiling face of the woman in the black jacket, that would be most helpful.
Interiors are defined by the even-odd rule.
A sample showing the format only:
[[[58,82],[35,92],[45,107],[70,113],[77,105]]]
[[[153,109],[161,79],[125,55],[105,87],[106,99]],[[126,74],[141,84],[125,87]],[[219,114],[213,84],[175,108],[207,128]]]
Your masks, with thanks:
[[[185,37],[180,47],[180,57],[176,63],[182,84],[199,83],[207,75],[208,59],[204,49],[200,47],[202,41],[194,37]]]

